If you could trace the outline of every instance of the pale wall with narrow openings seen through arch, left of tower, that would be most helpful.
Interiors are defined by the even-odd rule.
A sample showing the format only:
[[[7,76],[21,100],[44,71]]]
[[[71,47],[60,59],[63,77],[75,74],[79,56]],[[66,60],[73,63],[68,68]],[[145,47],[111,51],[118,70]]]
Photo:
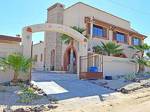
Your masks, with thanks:
[[[34,62],[33,68],[36,70],[43,70],[44,67],[44,42],[33,45],[33,59],[37,56],[37,61]],[[41,60],[42,55],[42,60]]]

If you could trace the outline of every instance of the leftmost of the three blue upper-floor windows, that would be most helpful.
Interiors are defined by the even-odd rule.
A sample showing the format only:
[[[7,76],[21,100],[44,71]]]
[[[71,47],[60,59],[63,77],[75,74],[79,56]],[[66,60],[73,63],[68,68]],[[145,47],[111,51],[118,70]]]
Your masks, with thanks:
[[[107,30],[101,26],[93,25],[93,36],[94,37],[106,37]]]

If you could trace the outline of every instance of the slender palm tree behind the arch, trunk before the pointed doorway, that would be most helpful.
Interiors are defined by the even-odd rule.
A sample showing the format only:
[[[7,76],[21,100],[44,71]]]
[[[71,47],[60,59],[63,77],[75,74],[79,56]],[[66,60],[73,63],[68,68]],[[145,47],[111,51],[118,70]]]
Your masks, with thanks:
[[[77,27],[77,26],[73,26],[71,27],[72,29],[76,30],[77,32],[83,34],[83,32],[85,31],[84,28],[80,28],[80,27]],[[62,41],[65,43],[65,44],[70,44],[71,45],[71,53],[70,53],[70,72],[73,72],[73,45],[74,45],[74,40],[72,37],[66,35],[66,34],[63,34],[61,36],[61,39]]]

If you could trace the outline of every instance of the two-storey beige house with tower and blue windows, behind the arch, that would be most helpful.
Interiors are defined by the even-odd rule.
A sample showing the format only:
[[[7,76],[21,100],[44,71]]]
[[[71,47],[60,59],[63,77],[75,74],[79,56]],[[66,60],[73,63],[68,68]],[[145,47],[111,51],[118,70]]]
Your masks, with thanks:
[[[46,23],[84,28],[84,35],[88,36],[89,54],[101,41],[113,41],[124,49],[124,57],[131,58],[134,51],[128,47],[143,44],[145,38],[131,28],[129,21],[81,2],[68,8],[60,3],[54,4],[47,9]],[[35,62],[34,68],[68,71],[73,63],[73,71],[76,72],[78,42],[74,40],[73,45],[65,44],[61,36],[60,33],[45,32],[44,42],[33,45],[33,57],[40,59],[40,62]]]

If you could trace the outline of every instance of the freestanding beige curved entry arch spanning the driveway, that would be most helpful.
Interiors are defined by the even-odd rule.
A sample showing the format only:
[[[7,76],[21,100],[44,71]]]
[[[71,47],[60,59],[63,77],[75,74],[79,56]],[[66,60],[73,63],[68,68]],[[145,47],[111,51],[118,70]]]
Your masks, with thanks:
[[[79,74],[80,56],[87,56],[87,38],[69,26],[55,23],[35,24],[22,30],[22,54],[31,57],[32,33],[52,31],[66,34],[78,42],[77,73]],[[87,67],[84,67],[87,69]]]

